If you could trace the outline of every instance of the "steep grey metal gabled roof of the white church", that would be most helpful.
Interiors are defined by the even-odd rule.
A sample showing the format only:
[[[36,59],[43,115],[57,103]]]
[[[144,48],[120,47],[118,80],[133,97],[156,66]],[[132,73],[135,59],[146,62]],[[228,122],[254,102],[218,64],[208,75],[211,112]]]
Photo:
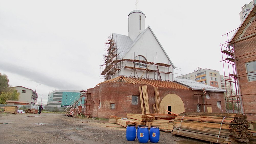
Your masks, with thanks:
[[[170,60],[169,56],[167,55],[167,53],[165,52],[163,46],[161,45],[161,43],[159,42],[159,40],[156,38],[156,35],[154,34],[154,32],[152,31],[152,29],[150,28],[150,26],[148,26],[147,28],[145,28],[137,37],[134,41],[131,40],[131,38],[129,36],[125,36],[125,35],[119,35],[119,34],[114,34],[112,38],[115,37],[119,37],[119,39],[122,40],[122,42],[120,42],[118,45],[116,44],[117,48],[118,48],[118,54],[119,54],[119,58],[123,58],[123,56],[125,56],[129,50],[134,46],[134,44],[144,35],[145,31],[149,29],[153,36],[155,37],[156,41],[158,42],[159,46],[161,47],[161,49],[163,50],[163,52],[165,53],[166,57],[168,58],[169,62],[171,63],[172,67],[174,67],[172,61]],[[126,39],[126,40],[125,40]],[[118,42],[118,41],[115,41]],[[130,45],[128,45],[130,44]]]

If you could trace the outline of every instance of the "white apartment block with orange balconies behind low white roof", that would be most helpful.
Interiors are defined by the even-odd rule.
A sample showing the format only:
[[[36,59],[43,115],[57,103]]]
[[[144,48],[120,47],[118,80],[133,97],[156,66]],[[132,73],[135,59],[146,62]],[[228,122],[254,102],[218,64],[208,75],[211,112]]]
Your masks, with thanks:
[[[216,70],[202,69],[198,67],[194,72],[177,76],[176,78],[193,80],[206,85],[221,88],[220,72]]]

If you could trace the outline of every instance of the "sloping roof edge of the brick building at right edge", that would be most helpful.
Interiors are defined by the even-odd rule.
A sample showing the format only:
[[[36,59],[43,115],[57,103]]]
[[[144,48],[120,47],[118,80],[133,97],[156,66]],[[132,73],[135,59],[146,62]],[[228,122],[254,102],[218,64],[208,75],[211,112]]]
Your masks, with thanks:
[[[236,32],[234,33],[234,35],[231,37],[230,42],[234,43],[235,40],[238,41],[240,38],[239,36],[242,34],[242,32],[244,31],[244,29],[246,29],[247,24],[250,22],[250,20],[252,19],[252,16],[255,15],[256,11],[255,8],[256,5],[250,9],[250,12],[248,13],[248,15],[243,19],[242,23],[239,25],[238,29],[236,30]]]

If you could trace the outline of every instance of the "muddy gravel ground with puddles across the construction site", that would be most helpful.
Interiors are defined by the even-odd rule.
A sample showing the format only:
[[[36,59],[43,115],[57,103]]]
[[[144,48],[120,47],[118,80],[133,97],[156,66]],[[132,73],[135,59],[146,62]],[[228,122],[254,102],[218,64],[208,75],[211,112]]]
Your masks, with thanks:
[[[0,114],[0,143],[140,143],[126,140],[126,128],[108,119],[59,113]],[[148,141],[148,143],[151,143]],[[208,143],[160,131],[158,143]]]

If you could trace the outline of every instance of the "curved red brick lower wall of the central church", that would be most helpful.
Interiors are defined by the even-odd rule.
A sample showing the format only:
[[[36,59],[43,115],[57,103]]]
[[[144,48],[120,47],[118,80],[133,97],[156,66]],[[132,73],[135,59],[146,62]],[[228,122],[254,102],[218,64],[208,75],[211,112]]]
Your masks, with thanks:
[[[126,84],[120,82],[102,83],[94,89],[89,89],[93,97],[94,109],[93,117],[109,118],[110,115],[116,115],[118,117],[126,117],[127,113],[141,114],[140,96],[139,96],[139,84]],[[147,86],[148,90],[148,103],[150,113],[153,113],[153,106],[155,104],[155,92],[154,87]],[[199,91],[199,93],[202,91]],[[167,94],[176,94],[184,102],[185,112],[195,112],[194,101],[198,103],[198,97],[194,97],[193,94],[198,93],[195,90],[183,90],[175,88],[159,88],[160,100]],[[138,105],[132,105],[132,95],[138,95]],[[210,92],[211,99],[205,100],[208,106],[212,107],[212,112],[221,112],[217,108],[217,101],[221,101],[222,109],[226,109],[224,93]],[[101,101],[101,108],[98,109],[99,100]],[[110,104],[115,103],[115,109],[110,109]],[[207,110],[207,106],[206,106]]]

